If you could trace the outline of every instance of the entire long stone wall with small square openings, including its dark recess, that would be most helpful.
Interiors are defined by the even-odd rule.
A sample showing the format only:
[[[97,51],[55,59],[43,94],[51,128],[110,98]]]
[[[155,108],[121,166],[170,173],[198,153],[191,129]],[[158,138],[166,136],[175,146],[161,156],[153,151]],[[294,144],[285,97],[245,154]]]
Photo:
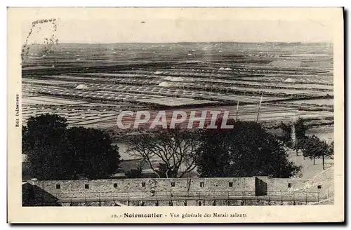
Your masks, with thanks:
[[[241,200],[257,196],[267,201],[318,201],[309,180],[269,177],[162,178],[35,181],[35,186],[61,203],[168,202]],[[33,182],[32,182],[33,183]],[[307,193],[313,191],[312,193]],[[190,201],[191,200],[191,201]],[[237,202],[235,201],[235,202]],[[209,203],[206,203],[208,205]],[[238,201],[239,202],[239,201]],[[135,205],[135,204],[133,204]],[[160,204],[161,205],[161,204]],[[164,205],[164,204],[163,204]],[[237,204],[234,204],[237,205]]]

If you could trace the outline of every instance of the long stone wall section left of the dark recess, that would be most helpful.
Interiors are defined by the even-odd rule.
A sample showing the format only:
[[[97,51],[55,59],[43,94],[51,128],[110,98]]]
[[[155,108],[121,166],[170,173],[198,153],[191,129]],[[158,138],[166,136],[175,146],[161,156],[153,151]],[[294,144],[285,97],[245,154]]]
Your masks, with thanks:
[[[107,179],[37,181],[35,184],[58,198],[96,198],[110,196],[234,196],[236,191],[255,191],[254,177]],[[240,192],[237,196],[240,196]]]

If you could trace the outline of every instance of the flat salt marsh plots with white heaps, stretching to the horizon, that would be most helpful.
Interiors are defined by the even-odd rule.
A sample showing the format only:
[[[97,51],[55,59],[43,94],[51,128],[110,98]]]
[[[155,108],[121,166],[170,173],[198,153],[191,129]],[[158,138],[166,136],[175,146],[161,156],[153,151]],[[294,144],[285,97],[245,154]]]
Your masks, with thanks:
[[[22,65],[23,123],[49,112],[70,126],[115,130],[123,110],[223,108],[245,121],[333,121],[330,43],[58,44],[44,50],[31,46]]]

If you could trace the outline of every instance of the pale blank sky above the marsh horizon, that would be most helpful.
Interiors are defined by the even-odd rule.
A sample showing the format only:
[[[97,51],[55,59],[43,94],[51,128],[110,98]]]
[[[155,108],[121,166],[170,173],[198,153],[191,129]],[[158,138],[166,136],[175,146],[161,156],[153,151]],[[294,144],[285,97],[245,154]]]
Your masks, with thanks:
[[[143,11],[144,12],[144,11]],[[220,12],[220,11],[218,11]],[[217,12],[217,14],[218,14]],[[224,11],[223,11],[224,12]],[[95,12],[94,12],[95,13]],[[125,12],[124,12],[125,13]],[[241,13],[241,12],[240,12]],[[224,13],[225,14],[225,13]],[[254,14],[254,13],[253,13]],[[57,18],[57,31],[51,24],[34,27],[29,43],[43,43],[52,34],[60,43],[167,43],[167,42],[331,42],[330,23],[313,17],[186,17],[141,13],[129,17],[110,13],[87,13],[76,18],[66,14]],[[32,27],[31,20],[22,21],[22,41]]]

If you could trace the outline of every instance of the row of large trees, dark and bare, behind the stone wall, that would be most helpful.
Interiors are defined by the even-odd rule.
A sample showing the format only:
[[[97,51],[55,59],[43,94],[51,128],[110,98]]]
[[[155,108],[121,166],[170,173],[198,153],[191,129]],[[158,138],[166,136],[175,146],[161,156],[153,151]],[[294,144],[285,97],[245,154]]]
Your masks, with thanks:
[[[127,151],[141,159],[126,177],[141,177],[147,165],[159,178],[292,177],[300,167],[289,161],[282,142],[256,122],[227,121],[232,128],[167,128],[132,136]],[[110,135],[93,128],[67,128],[58,115],[30,117],[22,128],[26,168],[38,180],[109,178],[120,170],[119,149]],[[158,165],[155,165],[158,162]]]

